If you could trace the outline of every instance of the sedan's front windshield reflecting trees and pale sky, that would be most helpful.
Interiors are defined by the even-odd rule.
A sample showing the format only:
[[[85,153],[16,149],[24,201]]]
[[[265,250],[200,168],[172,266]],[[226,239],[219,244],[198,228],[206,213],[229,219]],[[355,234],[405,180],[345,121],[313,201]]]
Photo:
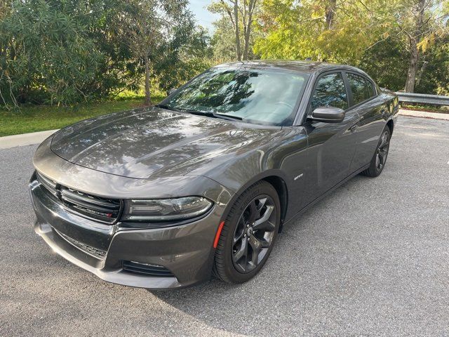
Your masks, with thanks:
[[[161,102],[173,110],[291,125],[309,75],[281,70],[212,68]]]

